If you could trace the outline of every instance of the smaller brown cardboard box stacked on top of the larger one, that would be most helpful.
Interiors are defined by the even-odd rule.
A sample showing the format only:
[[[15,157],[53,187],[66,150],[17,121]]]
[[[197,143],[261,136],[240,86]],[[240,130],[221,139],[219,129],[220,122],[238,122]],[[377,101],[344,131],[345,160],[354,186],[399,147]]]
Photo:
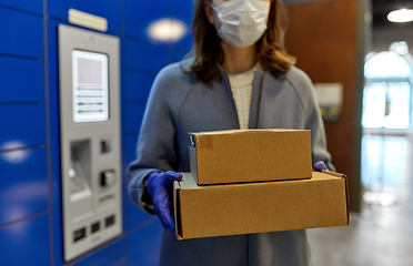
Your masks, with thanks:
[[[199,185],[311,178],[309,130],[233,130],[190,134]]]

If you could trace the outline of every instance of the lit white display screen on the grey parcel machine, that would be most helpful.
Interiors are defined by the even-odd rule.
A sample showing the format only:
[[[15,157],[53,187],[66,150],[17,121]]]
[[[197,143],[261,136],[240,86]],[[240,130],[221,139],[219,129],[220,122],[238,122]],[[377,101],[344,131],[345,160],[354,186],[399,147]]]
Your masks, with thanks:
[[[73,121],[108,121],[108,55],[73,50],[72,65]]]

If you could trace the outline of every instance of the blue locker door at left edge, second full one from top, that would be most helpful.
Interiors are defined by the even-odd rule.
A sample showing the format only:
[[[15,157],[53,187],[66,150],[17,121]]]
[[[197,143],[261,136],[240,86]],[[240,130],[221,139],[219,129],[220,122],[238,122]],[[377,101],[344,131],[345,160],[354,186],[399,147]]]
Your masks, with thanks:
[[[44,63],[0,57],[0,102],[44,102]]]

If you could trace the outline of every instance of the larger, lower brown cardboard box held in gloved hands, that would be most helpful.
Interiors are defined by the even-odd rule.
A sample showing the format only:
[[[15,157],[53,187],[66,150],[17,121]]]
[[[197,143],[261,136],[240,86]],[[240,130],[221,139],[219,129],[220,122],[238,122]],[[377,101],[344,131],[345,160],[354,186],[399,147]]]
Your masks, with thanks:
[[[349,225],[346,177],[198,186],[174,182],[178,239]]]

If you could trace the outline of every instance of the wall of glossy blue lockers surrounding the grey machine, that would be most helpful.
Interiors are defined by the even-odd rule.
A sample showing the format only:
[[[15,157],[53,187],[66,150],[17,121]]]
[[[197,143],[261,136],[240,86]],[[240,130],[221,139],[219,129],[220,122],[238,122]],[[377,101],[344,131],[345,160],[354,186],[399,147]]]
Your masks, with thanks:
[[[1,265],[64,265],[57,27],[69,24],[69,8],[107,18],[108,34],[121,39],[123,167],[134,158],[155,73],[191,48],[190,29],[177,43],[145,32],[160,18],[190,27],[188,0],[0,0]],[[121,237],[68,265],[154,265],[162,227],[125,190],[123,223]]]

